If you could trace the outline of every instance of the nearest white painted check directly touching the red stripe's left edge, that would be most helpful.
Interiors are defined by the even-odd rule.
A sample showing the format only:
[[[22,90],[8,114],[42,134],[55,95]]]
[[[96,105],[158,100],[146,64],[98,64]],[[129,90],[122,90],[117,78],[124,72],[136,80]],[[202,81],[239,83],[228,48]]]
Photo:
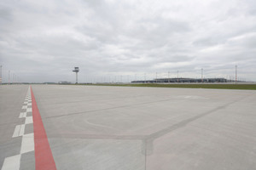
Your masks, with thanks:
[[[20,154],[34,150],[34,133],[24,134],[21,142]]]

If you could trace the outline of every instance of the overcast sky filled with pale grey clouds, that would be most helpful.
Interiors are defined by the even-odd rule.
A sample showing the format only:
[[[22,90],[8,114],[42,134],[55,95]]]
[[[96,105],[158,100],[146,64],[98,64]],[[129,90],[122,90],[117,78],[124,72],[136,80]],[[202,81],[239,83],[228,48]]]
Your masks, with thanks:
[[[255,0],[1,0],[3,82],[256,81]]]

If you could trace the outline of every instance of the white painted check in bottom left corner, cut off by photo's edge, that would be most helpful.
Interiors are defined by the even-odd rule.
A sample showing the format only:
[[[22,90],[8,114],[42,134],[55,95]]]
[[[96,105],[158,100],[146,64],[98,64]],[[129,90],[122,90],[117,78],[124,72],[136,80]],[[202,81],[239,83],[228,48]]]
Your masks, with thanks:
[[[2,170],[19,170],[20,155],[6,157],[3,161]]]

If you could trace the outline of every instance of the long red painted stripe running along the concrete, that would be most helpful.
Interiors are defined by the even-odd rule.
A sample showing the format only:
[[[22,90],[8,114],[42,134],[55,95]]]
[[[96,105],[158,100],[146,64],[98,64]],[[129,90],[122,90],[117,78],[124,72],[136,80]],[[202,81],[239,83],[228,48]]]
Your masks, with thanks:
[[[55,160],[49,148],[49,142],[45,133],[44,124],[38,111],[38,105],[32,92],[32,117],[34,127],[36,170],[55,170]]]

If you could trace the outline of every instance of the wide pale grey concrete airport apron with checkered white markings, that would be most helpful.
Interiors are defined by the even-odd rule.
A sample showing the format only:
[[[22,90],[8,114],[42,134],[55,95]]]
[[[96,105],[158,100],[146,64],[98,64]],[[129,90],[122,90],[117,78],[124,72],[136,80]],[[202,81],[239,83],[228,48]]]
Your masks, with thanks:
[[[32,85],[32,92],[56,169],[256,169],[256,91]],[[0,86],[0,95],[0,167],[35,169],[35,157],[47,156],[35,154],[29,86]]]

